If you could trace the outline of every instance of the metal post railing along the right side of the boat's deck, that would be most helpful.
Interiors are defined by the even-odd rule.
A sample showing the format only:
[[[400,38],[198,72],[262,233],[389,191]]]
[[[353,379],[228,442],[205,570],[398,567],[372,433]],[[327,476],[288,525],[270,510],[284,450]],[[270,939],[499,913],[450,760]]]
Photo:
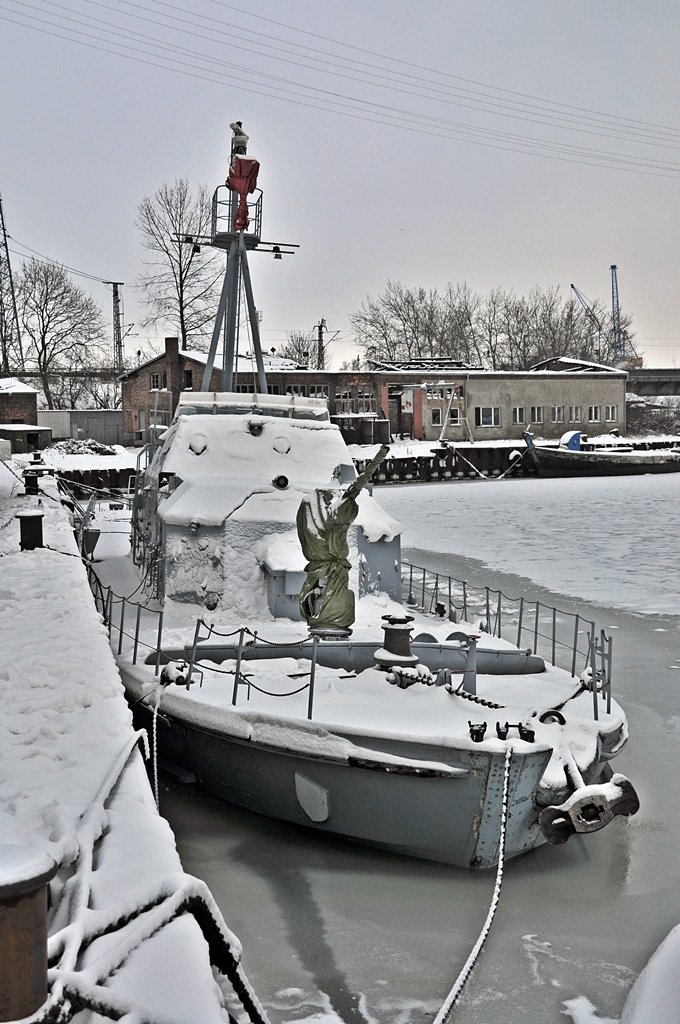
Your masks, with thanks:
[[[586,615],[511,597],[502,590],[475,587],[410,562],[401,563],[401,585],[407,605],[451,622],[475,624],[481,633],[517,647],[529,646],[535,654],[571,676],[592,670],[594,655],[599,659],[599,649],[605,645],[607,666],[603,670],[598,662],[596,671],[605,671],[610,684],[611,638],[598,633],[595,622]]]

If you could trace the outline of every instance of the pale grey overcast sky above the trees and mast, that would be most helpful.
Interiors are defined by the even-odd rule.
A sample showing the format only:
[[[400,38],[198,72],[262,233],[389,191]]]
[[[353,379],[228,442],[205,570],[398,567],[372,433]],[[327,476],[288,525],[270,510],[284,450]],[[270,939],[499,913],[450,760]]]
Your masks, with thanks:
[[[609,305],[615,263],[646,365],[680,365],[679,42],[673,0],[1,0],[13,265],[124,282],[134,351],[137,206],[223,183],[241,120],[263,237],[301,247],[251,256],[266,348],[325,317],[338,368],[388,280]]]

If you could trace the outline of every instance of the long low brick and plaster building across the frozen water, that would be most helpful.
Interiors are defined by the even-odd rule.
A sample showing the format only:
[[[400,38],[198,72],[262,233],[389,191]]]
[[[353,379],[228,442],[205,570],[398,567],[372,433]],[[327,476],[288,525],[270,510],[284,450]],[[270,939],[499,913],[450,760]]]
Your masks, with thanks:
[[[123,374],[124,443],[142,443],[150,428],[170,423],[180,392],[202,388],[206,358],[166,338],[165,352]],[[349,442],[389,440],[390,434],[519,439],[528,427],[547,438],[566,430],[626,429],[626,372],[564,357],[529,371],[480,370],[450,359],[376,362],[362,371],[306,370],[273,355],[264,364],[271,393],[327,398]],[[240,356],[235,380],[235,390],[256,391],[255,360]],[[221,369],[210,385],[221,390]]]

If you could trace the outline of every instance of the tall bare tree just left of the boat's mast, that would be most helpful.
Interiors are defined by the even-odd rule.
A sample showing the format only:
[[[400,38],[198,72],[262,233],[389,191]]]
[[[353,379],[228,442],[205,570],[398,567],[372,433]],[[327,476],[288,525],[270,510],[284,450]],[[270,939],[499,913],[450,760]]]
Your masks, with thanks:
[[[189,338],[195,347],[201,347],[206,327],[215,317],[224,259],[217,250],[196,241],[210,234],[211,218],[207,187],[200,185],[193,195],[186,178],[162,184],[142,199],[137,210],[135,226],[151,254],[144,260],[148,269],[137,283],[148,309],[144,323],[167,325],[182,348]]]

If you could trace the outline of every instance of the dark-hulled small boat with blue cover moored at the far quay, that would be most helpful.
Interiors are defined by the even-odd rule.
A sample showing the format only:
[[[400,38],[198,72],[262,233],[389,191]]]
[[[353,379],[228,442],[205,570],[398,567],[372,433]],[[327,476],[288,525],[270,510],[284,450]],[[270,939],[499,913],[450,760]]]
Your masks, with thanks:
[[[642,473],[677,473],[680,449],[640,450],[629,444],[583,447],[579,430],[569,430],[559,446],[539,445],[528,431],[523,433],[528,458],[540,476],[622,476]]]

